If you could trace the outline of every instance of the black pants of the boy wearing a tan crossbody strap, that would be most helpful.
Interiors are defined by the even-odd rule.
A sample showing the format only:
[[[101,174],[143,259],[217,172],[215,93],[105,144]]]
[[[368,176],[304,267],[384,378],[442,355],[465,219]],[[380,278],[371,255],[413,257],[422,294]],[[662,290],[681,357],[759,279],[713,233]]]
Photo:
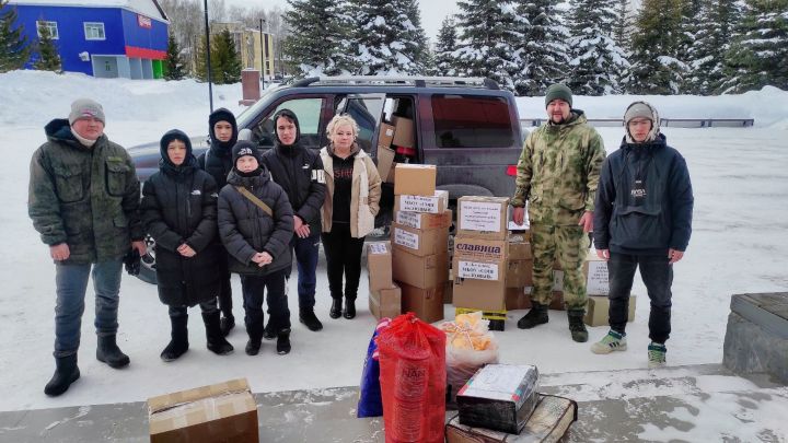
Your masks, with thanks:
[[[268,322],[275,331],[290,328],[290,310],[288,308],[285,285],[285,269],[267,276],[241,276],[241,290],[244,296],[244,322],[247,330],[263,330],[263,298],[268,301]],[[266,294],[266,291],[268,293]],[[267,295],[267,296],[266,296]]]

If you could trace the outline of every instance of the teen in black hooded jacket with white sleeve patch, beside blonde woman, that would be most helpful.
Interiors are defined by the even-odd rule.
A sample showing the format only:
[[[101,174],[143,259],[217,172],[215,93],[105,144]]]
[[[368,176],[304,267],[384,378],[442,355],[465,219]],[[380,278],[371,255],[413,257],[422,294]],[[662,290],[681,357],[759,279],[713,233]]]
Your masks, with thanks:
[[[310,330],[323,329],[314,314],[317,256],[321,242],[321,207],[325,199],[323,161],[316,152],[299,143],[301,130],[296,114],[280,109],[274,115],[276,145],[263,155],[279,186],[288,195],[293,208],[294,234],[290,250],[294,253],[299,270],[299,319]],[[290,273],[288,272],[288,279]],[[274,338],[266,328],[266,338]]]

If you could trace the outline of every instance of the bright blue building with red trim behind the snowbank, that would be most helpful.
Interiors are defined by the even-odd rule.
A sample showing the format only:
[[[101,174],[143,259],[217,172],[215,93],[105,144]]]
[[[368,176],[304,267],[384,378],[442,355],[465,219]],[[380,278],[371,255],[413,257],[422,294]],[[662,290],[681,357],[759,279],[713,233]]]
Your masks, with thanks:
[[[16,8],[28,42],[38,40],[42,27],[49,30],[63,71],[100,78],[163,75],[170,22],[157,0],[10,0],[9,5]]]

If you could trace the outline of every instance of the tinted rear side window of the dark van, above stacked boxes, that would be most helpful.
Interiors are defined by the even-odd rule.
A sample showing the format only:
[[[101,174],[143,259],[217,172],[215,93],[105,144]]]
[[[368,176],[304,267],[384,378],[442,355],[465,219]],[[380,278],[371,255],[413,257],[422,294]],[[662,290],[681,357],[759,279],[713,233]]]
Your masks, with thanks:
[[[438,148],[508,148],[514,142],[503,97],[432,95]]]

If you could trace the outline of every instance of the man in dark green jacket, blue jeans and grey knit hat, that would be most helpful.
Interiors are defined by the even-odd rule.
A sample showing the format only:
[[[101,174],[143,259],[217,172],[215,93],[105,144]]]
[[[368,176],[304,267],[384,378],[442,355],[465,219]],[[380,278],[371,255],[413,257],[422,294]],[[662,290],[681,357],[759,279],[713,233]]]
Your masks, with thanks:
[[[44,388],[65,393],[79,378],[77,351],[88,278],[95,289],[96,359],[123,368],[118,349],[118,292],[124,256],[146,253],[138,209],[139,182],[126,150],[104,135],[104,110],[88,98],[71,104],[67,119],[46,128],[47,142],[31,161],[27,210],[55,260],[56,371]]]

